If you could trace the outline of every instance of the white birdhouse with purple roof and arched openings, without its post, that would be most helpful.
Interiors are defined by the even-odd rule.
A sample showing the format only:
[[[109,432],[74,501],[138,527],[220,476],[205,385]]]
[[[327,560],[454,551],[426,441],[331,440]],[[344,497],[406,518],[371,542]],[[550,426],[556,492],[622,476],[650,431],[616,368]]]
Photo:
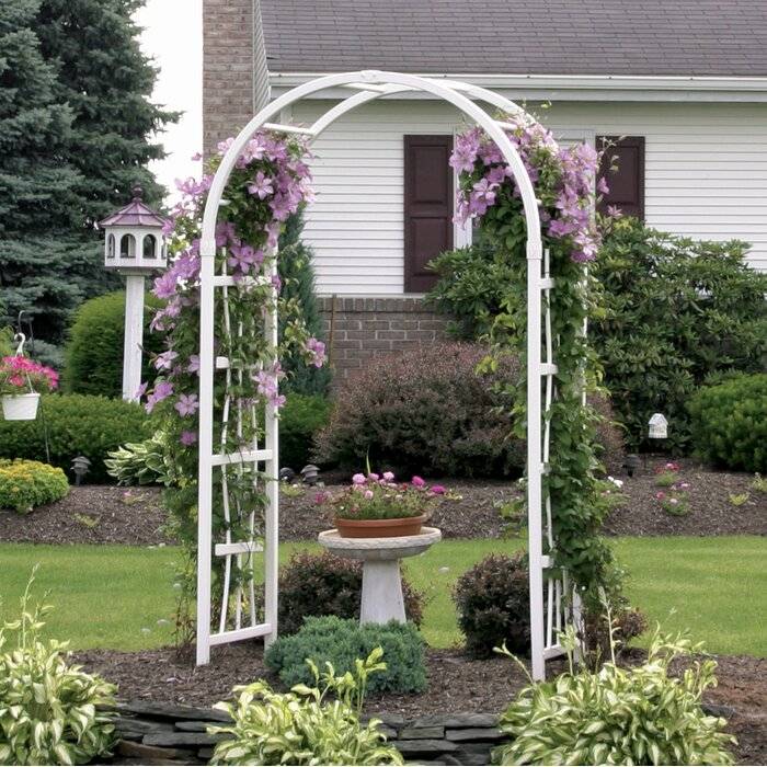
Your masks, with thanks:
[[[99,226],[104,230],[104,266],[124,274],[150,274],[164,270],[168,253],[162,236],[165,220],[141,201],[141,187],[122,210]]]

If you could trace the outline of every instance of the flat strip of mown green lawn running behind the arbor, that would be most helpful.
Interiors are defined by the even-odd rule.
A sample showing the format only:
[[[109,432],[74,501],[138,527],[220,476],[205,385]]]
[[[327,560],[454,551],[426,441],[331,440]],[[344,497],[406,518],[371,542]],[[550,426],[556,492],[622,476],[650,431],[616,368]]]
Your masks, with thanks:
[[[758,537],[621,538],[618,561],[629,571],[628,593],[666,630],[688,628],[711,652],[767,656],[767,540]],[[520,540],[448,540],[408,560],[407,576],[430,602],[423,631],[435,646],[460,641],[450,589],[456,579],[493,551]],[[285,561],[298,548],[287,543]],[[41,563],[37,593],[49,589],[49,633],[72,646],[138,650],[171,641],[174,607],[172,548],[0,545],[0,597],[13,615],[32,565]],[[640,642],[641,643],[641,642]]]

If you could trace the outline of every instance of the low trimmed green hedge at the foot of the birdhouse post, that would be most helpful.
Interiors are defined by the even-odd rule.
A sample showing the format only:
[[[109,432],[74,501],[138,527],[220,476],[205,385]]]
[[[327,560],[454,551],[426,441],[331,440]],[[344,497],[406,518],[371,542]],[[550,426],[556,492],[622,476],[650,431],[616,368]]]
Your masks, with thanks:
[[[41,410],[35,421],[0,421],[0,458],[45,458],[47,431],[49,463],[67,472],[72,458],[85,456],[91,461],[85,481],[103,482],[107,453],[153,431],[140,405],[105,397],[47,394]]]

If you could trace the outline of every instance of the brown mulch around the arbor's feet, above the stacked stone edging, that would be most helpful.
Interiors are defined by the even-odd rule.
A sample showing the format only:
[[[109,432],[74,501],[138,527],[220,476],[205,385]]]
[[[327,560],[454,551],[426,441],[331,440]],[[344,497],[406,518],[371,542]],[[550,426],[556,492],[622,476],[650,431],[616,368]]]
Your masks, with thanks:
[[[234,685],[260,677],[275,683],[257,644],[220,648],[210,665],[199,668],[179,661],[172,650],[99,650],[76,653],[76,659],[118,684],[121,698],[126,700],[210,706],[226,699]],[[630,651],[627,662],[641,659],[641,651]],[[721,655],[717,661],[719,686],[706,692],[705,702],[722,707],[720,713],[729,719],[729,730],[739,739],[735,754],[740,764],[767,764],[767,659]],[[500,711],[526,684],[511,661],[472,661],[459,650],[428,650],[427,668],[431,684],[426,692],[370,697],[366,710],[405,719]],[[551,673],[561,668],[559,661],[549,665]]]

